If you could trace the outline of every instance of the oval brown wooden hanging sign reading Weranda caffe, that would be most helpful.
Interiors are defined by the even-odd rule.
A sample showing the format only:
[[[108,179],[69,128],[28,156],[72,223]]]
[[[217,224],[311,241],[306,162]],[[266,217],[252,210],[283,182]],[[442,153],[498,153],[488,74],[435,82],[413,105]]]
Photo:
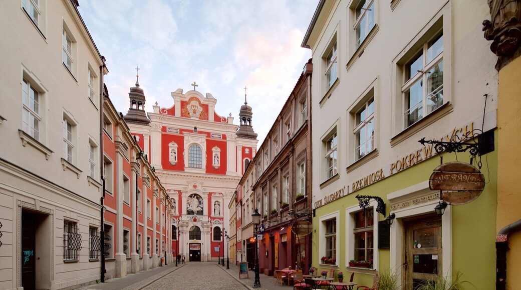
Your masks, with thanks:
[[[485,177],[476,167],[460,161],[444,163],[429,178],[431,190],[441,190],[441,199],[462,205],[477,199],[485,188]]]

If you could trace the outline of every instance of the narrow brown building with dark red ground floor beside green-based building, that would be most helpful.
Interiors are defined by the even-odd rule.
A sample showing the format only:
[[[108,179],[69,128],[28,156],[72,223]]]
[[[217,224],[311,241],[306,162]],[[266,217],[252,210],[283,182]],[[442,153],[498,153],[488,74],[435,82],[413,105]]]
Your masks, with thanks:
[[[254,195],[246,201],[249,202],[246,206],[250,212],[258,209],[262,215],[265,231],[263,239],[258,241],[259,267],[266,275],[287,267],[307,270],[311,265],[311,235],[297,231],[295,225],[311,221],[308,104],[312,71],[310,61],[304,65],[254,159],[252,170],[256,173],[251,184]]]

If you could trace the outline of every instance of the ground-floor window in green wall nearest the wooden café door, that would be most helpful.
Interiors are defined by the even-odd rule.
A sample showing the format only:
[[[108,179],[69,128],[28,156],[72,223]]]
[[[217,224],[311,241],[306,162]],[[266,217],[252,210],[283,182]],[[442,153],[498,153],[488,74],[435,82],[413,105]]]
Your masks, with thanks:
[[[373,261],[373,208],[354,213],[354,260]]]

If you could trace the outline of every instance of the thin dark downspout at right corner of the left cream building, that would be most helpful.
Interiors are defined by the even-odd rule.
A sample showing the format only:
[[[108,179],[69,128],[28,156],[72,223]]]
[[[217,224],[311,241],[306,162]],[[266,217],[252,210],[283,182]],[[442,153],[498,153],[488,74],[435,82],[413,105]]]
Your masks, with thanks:
[[[101,204],[101,231],[100,231],[100,254],[101,254],[101,277],[100,277],[100,280],[102,283],[105,283],[105,273],[107,272],[107,270],[105,269],[105,217],[104,217],[104,209],[105,209],[105,206],[104,206],[104,201],[105,201],[105,173],[104,173],[104,160],[103,160],[103,139],[104,139],[104,136],[103,136],[103,127],[104,127],[104,124],[105,124],[105,121],[104,121],[104,112],[103,112],[103,101],[104,101],[104,96],[103,94],[105,93],[105,90],[104,90],[104,83],[103,83],[103,75],[104,75],[104,69],[106,69],[106,66],[105,66],[105,57],[102,57],[102,60],[103,60],[103,64],[100,65],[100,172],[101,172],[101,180],[102,180],[102,196],[101,196],[101,199],[100,199],[100,204]]]

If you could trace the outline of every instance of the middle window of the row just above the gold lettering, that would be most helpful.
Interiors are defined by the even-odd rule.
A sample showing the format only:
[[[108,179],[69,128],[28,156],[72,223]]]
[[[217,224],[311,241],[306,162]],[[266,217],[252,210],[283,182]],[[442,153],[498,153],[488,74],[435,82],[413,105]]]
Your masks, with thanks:
[[[355,161],[373,150],[375,140],[374,97],[363,104],[355,114]]]

